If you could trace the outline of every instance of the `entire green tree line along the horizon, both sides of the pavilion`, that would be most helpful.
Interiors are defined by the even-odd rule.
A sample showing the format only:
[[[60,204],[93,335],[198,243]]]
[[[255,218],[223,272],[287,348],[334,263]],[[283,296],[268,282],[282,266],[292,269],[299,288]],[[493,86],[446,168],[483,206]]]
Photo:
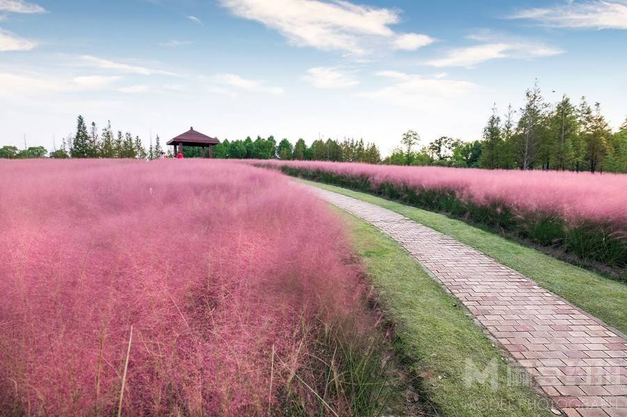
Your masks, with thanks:
[[[231,159],[297,159],[333,162],[366,162],[369,164],[436,165],[487,169],[555,169],[627,173],[627,119],[617,132],[612,132],[601,105],[588,104],[581,97],[575,105],[564,95],[559,102],[549,103],[539,86],[527,90],[525,104],[514,110],[511,104],[504,114],[493,107],[480,140],[471,142],[440,136],[418,148],[421,139],[415,130],[408,130],[401,145],[382,159],[375,143],[362,139],[317,139],[307,145],[304,139],[294,144],[288,139],[277,143],[274,136],[256,139],[247,137],[224,139],[213,147],[216,158]],[[42,146],[23,150],[15,146],[0,148],[0,158],[139,158],[155,159],[170,155],[157,135],[146,149],[130,132],[114,132],[111,123],[98,130],[95,123],[87,127],[82,116],[77,118],[76,133],[63,139],[61,148],[47,152]],[[201,157],[201,148],[184,147],[185,157]]]

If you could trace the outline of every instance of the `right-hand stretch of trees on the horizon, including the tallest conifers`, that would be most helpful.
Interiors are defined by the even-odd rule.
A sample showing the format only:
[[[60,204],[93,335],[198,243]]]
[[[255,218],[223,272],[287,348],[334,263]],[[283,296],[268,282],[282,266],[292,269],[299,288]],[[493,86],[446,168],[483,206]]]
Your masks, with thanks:
[[[550,104],[537,84],[527,90],[525,97],[525,105],[518,111],[510,104],[500,115],[494,107],[479,141],[440,136],[415,150],[420,136],[409,130],[403,134],[401,146],[383,162],[627,173],[627,119],[617,132],[612,132],[601,105],[591,106],[585,97],[576,106],[567,95]]]

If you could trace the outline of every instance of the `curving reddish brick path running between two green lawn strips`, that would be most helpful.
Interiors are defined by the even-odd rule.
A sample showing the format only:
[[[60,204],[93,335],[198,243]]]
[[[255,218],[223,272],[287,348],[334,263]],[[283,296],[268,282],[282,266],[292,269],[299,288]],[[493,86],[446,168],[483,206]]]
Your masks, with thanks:
[[[534,281],[390,210],[305,186],[395,239],[568,416],[627,416],[627,340]]]

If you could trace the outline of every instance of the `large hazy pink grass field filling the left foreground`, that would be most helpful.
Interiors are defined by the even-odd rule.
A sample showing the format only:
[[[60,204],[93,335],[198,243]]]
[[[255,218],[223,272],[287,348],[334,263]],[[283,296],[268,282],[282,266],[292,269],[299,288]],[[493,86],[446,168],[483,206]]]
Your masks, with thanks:
[[[116,414],[131,325],[124,414],[265,414],[303,324],[358,308],[341,223],[279,173],[29,160],[0,162],[0,177],[8,414]]]

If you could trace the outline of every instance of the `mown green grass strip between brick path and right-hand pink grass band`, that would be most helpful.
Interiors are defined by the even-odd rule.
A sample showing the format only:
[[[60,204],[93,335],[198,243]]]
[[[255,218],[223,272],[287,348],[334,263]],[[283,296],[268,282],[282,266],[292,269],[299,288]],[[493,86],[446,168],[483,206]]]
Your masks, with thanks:
[[[619,331],[627,333],[627,285],[624,283],[575,267],[494,233],[469,226],[463,221],[450,219],[443,214],[332,185],[305,180],[302,182],[380,205],[454,237],[459,242],[532,278],[547,290],[564,297]]]

